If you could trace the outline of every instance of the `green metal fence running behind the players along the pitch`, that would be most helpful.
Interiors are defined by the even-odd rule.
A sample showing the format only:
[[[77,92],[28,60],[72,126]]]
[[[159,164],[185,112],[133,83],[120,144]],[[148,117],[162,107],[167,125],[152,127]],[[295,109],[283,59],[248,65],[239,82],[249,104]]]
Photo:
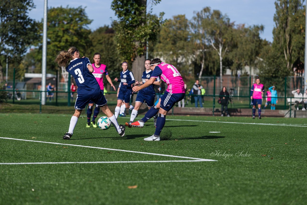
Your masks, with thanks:
[[[58,76],[58,75],[56,75]],[[287,101],[287,98],[293,98],[292,90],[299,88],[301,93],[303,91],[303,78],[302,77],[285,77],[283,79],[276,78],[260,78],[260,82],[264,84],[265,90],[272,85],[275,86],[278,92],[278,103],[276,104],[276,109],[289,109],[290,105]],[[202,96],[202,105],[205,108],[212,108],[212,114],[214,115],[215,108],[220,107],[217,104],[217,99],[219,98],[219,93],[223,86],[227,88],[227,91],[230,94],[232,104],[229,104],[229,108],[251,108],[251,99],[250,99],[250,90],[252,84],[255,82],[255,77],[231,77],[223,76],[223,83],[220,82],[220,77],[208,76],[201,78],[201,85],[206,90],[205,94]],[[39,104],[40,109],[44,109],[44,106],[41,106],[41,93],[39,90],[39,84],[36,85],[28,83],[28,81],[17,81],[13,78],[12,81],[8,81],[8,87],[0,92],[9,93],[10,98],[8,103],[12,104]],[[48,84],[48,82],[47,82]],[[46,98],[46,105],[53,106],[72,106],[76,99],[76,93],[74,93],[73,99],[70,97],[70,77],[67,82],[61,82],[59,79],[55,79],[55,90],[52,92],[53,96]],[[38,85],[38,86],[37,86]],[[108,85],[108,83],[106,83]],[[12,86],[12,87],[10,87]],[[27,89],[32,88],[32,89]],[[116,105],[117,97],[116,92],[112,91],[110,86],[108,92],[106,93],[106,98],[108,104]],[[17,100],[16,91],[20,93],[20,100]],[[190,88],[192,89],[192,88]],[[307,99],[306,99],[307,100]],[[263,95],[263,103],[265,104],[265,97]],[[134,104],[134,103],[133,103]],[[185,106],[194,107],[193,95],[187,94],[185,97]],[[41,110],[40,110],[41,111]]]

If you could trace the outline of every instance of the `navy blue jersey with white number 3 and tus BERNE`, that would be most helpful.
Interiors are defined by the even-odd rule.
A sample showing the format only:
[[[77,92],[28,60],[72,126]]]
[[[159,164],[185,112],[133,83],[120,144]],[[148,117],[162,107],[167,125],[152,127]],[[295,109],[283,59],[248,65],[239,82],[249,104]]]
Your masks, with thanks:
[[[75,78],[78,95],[93,95],[101,91],[96,78],[90,73],[87,65],[91,65],[88,58],[75,58],[66,67],[66,71]]]

